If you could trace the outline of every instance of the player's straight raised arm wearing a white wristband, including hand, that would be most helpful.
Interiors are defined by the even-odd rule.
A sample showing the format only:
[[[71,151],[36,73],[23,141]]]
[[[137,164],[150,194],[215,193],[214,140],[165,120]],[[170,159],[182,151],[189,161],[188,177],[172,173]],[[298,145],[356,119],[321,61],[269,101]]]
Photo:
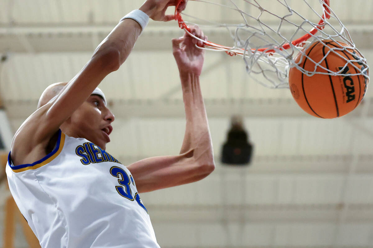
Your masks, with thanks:
[[[63,87],[63,89],[35,111],[18,129],[12,141],[12,160],[15,165],[34,162],[43,154],[37,152],[47,147],[63,122],[65,122],[93,90],[111,72],[116,71],[131,53],[148,18],[168,21],[167,7],[175,0],[147,0],[122,19],[110,34],[98,45],[90,61]],[[182,6],[185,8],[185,4]],[[24,144],[27,144],[25,146]],[[52,144],[53,145],[53,144]]]

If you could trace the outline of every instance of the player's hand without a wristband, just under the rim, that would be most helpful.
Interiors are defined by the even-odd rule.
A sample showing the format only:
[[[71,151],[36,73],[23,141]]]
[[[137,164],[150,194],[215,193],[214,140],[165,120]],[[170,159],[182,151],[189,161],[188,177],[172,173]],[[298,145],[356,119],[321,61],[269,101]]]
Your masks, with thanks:
[[[197,26],[190,26],[189,28],[192,35],[207,41],[207,36]],[[196,45],[203,46],[203,42],[193,38],[188,33],[185,33],[181,38],[172,39],[173,56],[176,64],[178,64],[180,73],[201,75],[204,50],[197,48]]]

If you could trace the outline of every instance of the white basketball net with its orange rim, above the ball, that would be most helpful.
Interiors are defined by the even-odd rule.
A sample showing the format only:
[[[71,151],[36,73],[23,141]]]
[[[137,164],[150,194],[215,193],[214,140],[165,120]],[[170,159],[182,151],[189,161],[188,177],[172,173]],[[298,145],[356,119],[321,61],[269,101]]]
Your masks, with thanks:
[[[179,1],[181,3],[183,0]],[[297,9],[293,9],[288,4],[290,2],[296,3]],[[206,13],[198,13],[199,10]],[[308,76],[347,76],[342,72],[345,67],[351,65],[357,69],[358,74],[348,75],[363,75],[369,80],[367,61],[355,47],[348,30],[330,8],[329,0],[189,0],[184,12],[179,13],[176,10],[175,19],[189,34],[189,25],[198,25],[209,37],[210,33],[213,33],[220,41],[203,41],[204,46],[201,49],[242,56],[248,75],[269,88],[288,88],[291,67],[296,67]],[[227,38],[230,44],[224,44]],[[300,66],[303,59],[300,59],[298,64],[294,61],[297,54],[307,50],[312,43],[326,39],[335,41],[340,47],[327,47],[329,52],[325,57],[334,52],[342,58],[335,51],[344,50],[354,59],[344,58],[346,64],[339,71],[332,71],[320,65],[325,57],[321,61],[313,61],[305,53],[302,54],[315,64],[313,71],[307,71]],[[353,52],[354,50],[358,54]]]

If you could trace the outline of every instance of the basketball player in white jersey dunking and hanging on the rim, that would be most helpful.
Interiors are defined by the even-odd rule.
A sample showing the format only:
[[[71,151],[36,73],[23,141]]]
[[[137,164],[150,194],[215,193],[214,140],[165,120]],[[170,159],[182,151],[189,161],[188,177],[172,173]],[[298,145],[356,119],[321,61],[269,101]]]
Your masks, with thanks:
[[[9,186],[43,248],[159,247],[139,193],[191,183],[214,170],[199,84],[204,54],[188,35],[172,41],[186,114],[180,154],[125,167],[105,150],[115,118],[97,86],[125,62],[148,17],[172,19],[165,15],[169,6],[175,1],[147,0],[125,16],[69,83],[43,92],[37,111],[16,132]],[[207,39],[198,28],[192,32]]]

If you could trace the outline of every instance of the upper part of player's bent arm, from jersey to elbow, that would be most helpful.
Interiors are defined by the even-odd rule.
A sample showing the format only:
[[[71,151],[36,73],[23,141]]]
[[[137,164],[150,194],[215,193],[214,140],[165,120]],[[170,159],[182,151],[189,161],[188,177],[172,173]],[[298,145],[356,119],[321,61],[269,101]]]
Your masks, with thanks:
[[[193,151],[175,156],[147,158],[129,165],[139,193],[149,192],[201,180],[215,165],[197,161]]]

